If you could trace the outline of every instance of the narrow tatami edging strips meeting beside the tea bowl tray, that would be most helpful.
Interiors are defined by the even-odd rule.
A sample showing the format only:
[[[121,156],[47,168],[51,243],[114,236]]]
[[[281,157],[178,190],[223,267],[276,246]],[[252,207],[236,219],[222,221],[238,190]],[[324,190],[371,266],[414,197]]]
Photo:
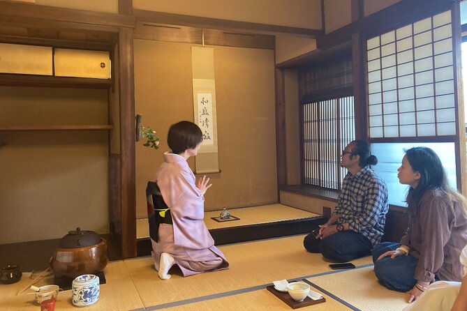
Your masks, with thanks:
[[[357,266],[355,268],[366,268],[368,266],[373,266],[373,264],[362,264],[361,266]],[[355,311],[361,311],[357,308],[355,308],[353,305],[351,305],[350,303],[347,303],[346,301],[344,301],[343,299],[339,298],[338,296],[335,296],[334,294],[331,294],[329,291],[319,287],[318,285],[315,285],[313,284],[313,282],[310,282],[309,280],[306,280],[308,278],[316,278],[318,276],[322,276],[322,275],[328,275],[328,274],[334,274],[334,273],[341,273],[343,271],[346,271],[346,270],[337,270],[337,271],[327,271],[327,272],[323,272],[323,273],[316,273],[316,274],[312,274],[312,275],[304,275],[302,277],[299,277],[299,278],[293,278],[293,279],[290,279],[288,280],[289,282],[296,282],[296,281],[301,281],[301,280],[304,280],[304,282],[308,283],[309,285],[315,287],[316,289],[320,290],[320,291],[323,291],[323,293],[327,294],[328,296],[332,297],[334,300],[336,301],[339,301],[339,303],[342,303],[343,305],[346,305],[346,307],[352,309],[352,310],[355,310]],[[269,285],[272,285],[272,283],[267,283],[267,284],[263,284],[263,285],[256,285],[256,286],[253,286],[253,287],[247,287],[247,288],[244,288],[244,289],[236,289],[235,291],[225,291],[223,293],[219,293],[219,294],[212,294],[212,295],[207,295],[207,296],[201,296],[201,297],[196,297],[196,298],[190,298],[190,299],[186,299],[186,300],[182,300],[182,301],[174,301],[172,303],[163,303],[161,305],[152,305],[150,307],[147,307],[145,309],[136,309],[136,310],[131,310],[131,311],[141,311],[141,310],[147,310],[147,311],[151,311],[151,310],[161,310],[161,309],[165,309],[165,308],[172,308],[172,307],[177,307],[179,305],[188,305],[190,303],[199,303],[200,301],[208,301],[208,300],[211,300],[211,299],[216,299],[216,298],[221,298],[221,297],[227,297],[227,296],[234,296],[234,295],[238,295],[238,294],[244,294],[244,293],[248,293],[248,292],[251,292],[251,291],[258,291],[260,289],[265,289],[267,286]]]

